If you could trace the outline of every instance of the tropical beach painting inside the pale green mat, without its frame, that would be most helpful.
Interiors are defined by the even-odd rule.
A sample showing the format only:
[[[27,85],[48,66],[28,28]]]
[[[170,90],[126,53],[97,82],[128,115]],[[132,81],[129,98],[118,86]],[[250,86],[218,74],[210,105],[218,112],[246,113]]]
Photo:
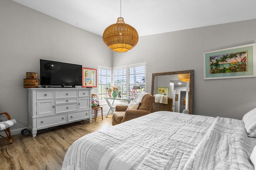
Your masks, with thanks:
[[[210,56],[210,74],[247,72],[247,51]]]

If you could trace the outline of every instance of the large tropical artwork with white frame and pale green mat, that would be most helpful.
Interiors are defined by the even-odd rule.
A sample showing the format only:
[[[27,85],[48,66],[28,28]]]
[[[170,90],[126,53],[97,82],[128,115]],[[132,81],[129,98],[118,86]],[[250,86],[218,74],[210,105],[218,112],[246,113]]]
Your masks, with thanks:
[[[204,53],[204,80],[255,76],[255,43]]]

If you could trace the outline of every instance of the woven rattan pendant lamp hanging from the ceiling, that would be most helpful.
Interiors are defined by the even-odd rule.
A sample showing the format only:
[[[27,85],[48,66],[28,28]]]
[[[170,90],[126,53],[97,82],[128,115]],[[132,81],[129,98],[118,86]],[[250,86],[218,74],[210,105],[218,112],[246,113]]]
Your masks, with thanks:
[[[139,35],[134,27],[126,24],[124,18],[119,17],[116,23],[105,29],[102,39],[108,48],[124,53],[138,43]]]

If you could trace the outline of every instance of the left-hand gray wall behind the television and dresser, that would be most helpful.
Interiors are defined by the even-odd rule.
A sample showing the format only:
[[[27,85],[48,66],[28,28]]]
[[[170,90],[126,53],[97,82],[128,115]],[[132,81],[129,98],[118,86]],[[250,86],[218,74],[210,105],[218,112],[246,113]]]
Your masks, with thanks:
[[[26,72],[40,73],[40,59],[97,68],[112,66],[112,51],[102,37],[11,0],[0,1],[0,112],[28,127]],[[97,93],[96,88],[93,89]]]

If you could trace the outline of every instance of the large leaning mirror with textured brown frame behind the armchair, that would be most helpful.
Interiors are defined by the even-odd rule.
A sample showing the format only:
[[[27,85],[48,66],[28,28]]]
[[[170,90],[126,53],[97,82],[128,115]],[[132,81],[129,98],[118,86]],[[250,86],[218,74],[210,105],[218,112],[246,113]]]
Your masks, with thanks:
[[[172,98],[173,111],[192,114],[193,81],[194,70],[153,73],[151,94],[164,93]]]

